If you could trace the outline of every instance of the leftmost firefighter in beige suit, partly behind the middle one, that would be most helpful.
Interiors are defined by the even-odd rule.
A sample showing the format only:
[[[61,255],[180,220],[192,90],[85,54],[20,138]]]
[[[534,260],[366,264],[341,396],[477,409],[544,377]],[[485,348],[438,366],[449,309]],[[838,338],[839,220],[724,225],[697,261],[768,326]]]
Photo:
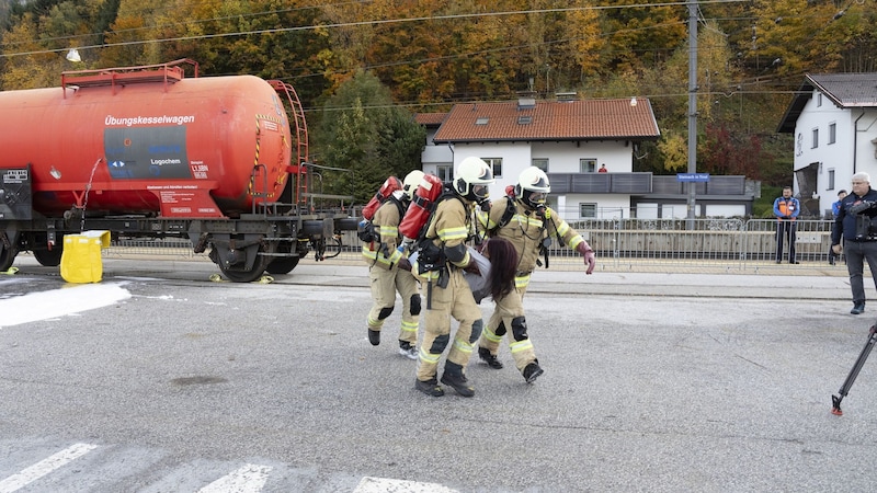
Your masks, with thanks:
[[[396,293],[402,298],[402,326],[399,332],[399,354],[410,359],[418,358],[418,323],[420,319],[420,287],[411,274],[408,257],[399,250],[402,238],[399,223],[411,197],[423,179],[423,172],[414,170],[405,177],[402,190],[394,194],[375,211],[372,218],[379,240],[363,242],[363,259],[368,264],[372,286],[372,309],[368,311],[368,342],[380,344],[380,329],[396,306]]]

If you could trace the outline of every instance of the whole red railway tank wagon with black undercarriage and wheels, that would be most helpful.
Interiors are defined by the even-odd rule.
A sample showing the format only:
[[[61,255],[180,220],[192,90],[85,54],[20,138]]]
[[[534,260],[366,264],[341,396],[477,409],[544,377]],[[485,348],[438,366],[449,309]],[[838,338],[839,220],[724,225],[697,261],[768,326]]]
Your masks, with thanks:
[[[197,77],[191,60],[65,72],[0,92],[0,271],[25,250],[58,265],[64,234],[101,229],[186,238],[250,282],[356,228],[308,207],[307,126],[280,81]]]

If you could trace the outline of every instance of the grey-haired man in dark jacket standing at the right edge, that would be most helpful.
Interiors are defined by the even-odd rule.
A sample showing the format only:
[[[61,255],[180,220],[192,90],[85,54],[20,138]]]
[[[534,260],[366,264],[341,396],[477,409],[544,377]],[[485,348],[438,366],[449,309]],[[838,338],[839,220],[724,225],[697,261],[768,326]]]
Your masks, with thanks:
[[[875,287],[877,287],[877,191],[870,187],[868,173],[853,175],[853,190],[841,200],[840,211],[831,231],[831,249],[835,255],[841,251],[846,256],[850,287],[853,289],[853,309],[850,313],[865,311],[865,285],[862,274],[868,261]],[[841,240],[843,239],[843,245]]]

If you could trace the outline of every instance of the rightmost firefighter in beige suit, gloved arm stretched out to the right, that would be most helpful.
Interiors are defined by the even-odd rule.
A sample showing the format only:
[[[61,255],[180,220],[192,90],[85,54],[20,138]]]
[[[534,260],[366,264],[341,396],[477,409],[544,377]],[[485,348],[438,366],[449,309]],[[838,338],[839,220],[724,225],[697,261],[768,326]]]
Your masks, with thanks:
[[[517,251],[519,264],[515,273],[515,290],[502,299],[494,300],[496,309],[478,344],[478,357],[491,368],[502,368],[497,353],[502,336],[511,330],[509,348],[515,366],[527,383],[532,383],[544,374],[527,334],[523,305],[524,294],[529,284],[529,276],[536,267],[543,241],[556,237],[561,244],[581,253],[586,274],[593,273],[595,265],[591,245],[554,209],[545,205],[550,191],[545,172],[531,167],[519,176],[514,197],[493,200],[489,213],[479,214],[479,221],[487,229],[489,237],[505,238],[512,242]]]

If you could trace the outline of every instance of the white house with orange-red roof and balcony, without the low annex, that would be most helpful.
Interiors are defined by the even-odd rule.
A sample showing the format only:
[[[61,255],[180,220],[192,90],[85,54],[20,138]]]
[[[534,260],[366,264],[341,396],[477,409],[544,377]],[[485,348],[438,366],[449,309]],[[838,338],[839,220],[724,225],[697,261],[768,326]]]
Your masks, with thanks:
[[[630,193],[651,190],[651,173],[633,172],[635,151],[660,137],[649,101],[627,99],[455,104],[434,133],[426,127],[424,172],[448,180],[453,167],[476,156],[492,167],[490,194],[498,197],[536,165],[548,173],[551,206],[571,219],[629,214]]]

